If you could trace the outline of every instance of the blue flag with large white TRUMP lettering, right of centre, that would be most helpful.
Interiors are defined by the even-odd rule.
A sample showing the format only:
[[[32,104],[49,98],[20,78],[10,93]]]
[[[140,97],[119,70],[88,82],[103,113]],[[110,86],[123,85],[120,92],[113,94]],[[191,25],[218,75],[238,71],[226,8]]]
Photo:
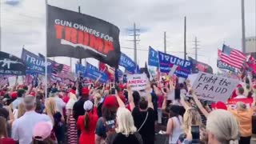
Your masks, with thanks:
[[[177,65],[178,68],[174,72],[178,77],[187,78],[191,74],[192,63],[174,55],[165,54],[158,51],[160,72],[169,73],[170,69]]]

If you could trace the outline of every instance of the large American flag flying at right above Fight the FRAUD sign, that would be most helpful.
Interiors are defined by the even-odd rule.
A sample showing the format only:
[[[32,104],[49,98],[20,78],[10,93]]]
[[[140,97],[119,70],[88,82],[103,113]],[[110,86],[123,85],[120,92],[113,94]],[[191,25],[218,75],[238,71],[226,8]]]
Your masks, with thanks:
[[[230,46],[223,45],[219,59],[230,66],[240,69],[243,63],[246,62],[246,54],[239,50],[232,49]]]

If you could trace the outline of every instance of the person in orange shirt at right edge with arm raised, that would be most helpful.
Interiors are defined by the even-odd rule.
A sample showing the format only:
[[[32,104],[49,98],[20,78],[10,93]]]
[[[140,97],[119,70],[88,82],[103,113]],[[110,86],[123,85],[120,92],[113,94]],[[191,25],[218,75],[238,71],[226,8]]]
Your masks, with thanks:
[[[252,116],[254,115],[254,108],[247,108],[244,102],[237,102],[236,110],[228,109],[239,122],[240,140],[239,144],[250,144],[252,135]]]

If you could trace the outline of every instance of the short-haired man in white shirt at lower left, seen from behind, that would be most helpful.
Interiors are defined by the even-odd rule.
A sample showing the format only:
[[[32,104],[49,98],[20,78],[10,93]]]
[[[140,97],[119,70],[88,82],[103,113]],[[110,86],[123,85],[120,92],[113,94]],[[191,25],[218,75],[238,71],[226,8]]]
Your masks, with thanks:
[[[38,122],[51,122],[51,119],[46,114],[38,114],[34,111],[36,101],[33,96],[24,98],[24,106],[26,113],[12,125],[12,138],[19,144],[29,144],[32,142],[32,130]]]

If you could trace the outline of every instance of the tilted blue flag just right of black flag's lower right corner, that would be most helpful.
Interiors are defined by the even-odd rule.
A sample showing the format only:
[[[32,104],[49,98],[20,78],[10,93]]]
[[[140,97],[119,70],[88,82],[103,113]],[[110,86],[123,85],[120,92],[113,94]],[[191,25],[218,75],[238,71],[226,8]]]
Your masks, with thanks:
[[[134,73],[136,70],[136,63],[129,58],[126,54],[121,53],[121,57],[119,60],[119,65],[126,68],[126,70],[130,73]]]

